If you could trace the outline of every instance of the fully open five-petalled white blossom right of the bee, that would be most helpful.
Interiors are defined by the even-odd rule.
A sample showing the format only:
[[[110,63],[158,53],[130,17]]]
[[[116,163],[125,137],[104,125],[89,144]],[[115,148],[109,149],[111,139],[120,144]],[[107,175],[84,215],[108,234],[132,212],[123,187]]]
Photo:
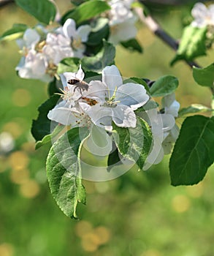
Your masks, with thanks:
[[[93,104],[79,104],[91,117],[93,124],[112,130],[112,121],[118,127],[136,127],[134,110],[148,102],[144,86],[137,83],[125,83],[115,65],[102,70],[102,81],[93,80],[89,83],[84,97],[93,100]],[[87,108],[86,108],[87,106]]]

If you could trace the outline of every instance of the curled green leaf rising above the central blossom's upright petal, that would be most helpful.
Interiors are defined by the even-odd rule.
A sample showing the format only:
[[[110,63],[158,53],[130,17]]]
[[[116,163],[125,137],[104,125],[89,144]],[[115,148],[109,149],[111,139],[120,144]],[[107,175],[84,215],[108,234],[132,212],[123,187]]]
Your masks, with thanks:
[[[104,41],[102,50],[93,57],[82,59],[83,69],[101,72],[104,67],[114,64],[115,47],[110,42]]]

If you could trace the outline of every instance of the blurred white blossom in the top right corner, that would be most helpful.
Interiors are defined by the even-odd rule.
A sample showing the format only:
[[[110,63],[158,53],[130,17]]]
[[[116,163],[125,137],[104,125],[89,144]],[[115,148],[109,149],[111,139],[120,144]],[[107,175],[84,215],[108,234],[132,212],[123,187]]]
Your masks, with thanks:
[[[191,10],[194,21],[191,26],[202,28],[204,26],[214,26],[214,4],[206,7],[205,4],[196,3]]]

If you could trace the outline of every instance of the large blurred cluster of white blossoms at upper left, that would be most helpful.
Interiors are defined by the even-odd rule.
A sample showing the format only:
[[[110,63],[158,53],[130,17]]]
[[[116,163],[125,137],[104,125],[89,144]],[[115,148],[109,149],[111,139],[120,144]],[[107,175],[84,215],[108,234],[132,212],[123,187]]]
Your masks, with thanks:
[[[23,38],[17,40],[23,57],[16,67],[21,78],[53,80],[58,63],[68,57],[82,58],[84,42],[88,40],[91,27],[80,26],[75,21],[66,20],[64,26],[48,30],[43,26],[26,29]]]

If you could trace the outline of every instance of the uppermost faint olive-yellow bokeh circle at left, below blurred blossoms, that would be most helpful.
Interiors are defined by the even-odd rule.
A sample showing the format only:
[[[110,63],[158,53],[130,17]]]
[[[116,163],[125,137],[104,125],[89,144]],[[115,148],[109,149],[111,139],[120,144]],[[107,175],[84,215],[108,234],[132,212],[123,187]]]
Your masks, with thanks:
[[[31,102],[31,94],[26,89],[17,89],[12,94],[12,102],[18,107],[26,107]]]

